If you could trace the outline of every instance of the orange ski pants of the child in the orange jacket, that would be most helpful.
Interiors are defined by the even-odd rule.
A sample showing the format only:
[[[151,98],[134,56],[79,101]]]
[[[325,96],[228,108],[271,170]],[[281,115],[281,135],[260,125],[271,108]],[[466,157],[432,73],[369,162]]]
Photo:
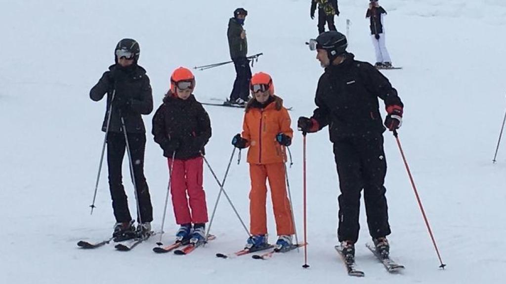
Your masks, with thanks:
[[[269,178],[269,187],[271,188],[277,234],[293,234],[290,203],[286,194],[284,164],[249,164],[249,176],[251,178],[251,191],[249,192],[249,229],[251,234],[267,233],[267,178]]]

